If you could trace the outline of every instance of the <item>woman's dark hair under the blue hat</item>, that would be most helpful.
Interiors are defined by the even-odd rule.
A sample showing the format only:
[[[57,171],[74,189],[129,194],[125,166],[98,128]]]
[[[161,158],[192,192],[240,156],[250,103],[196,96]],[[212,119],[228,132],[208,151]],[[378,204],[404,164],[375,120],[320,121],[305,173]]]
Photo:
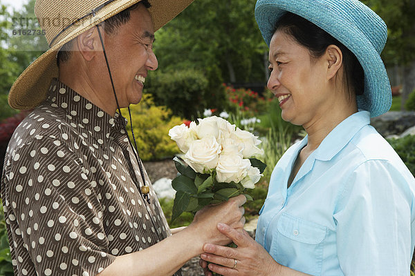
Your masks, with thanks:
[[[349,95],[352,95],[353,92],[356,95],[363,94],[365,90],[365,72],[351,50],[337,39],[310,21],[291,12],[286,12],[279,18],[275,24],[274,33],[277,30],[282,30],[291,35],[301,46],[308,49],[313,59],[322,57],[328,46],[338,46],[343,54],[344,80]]]

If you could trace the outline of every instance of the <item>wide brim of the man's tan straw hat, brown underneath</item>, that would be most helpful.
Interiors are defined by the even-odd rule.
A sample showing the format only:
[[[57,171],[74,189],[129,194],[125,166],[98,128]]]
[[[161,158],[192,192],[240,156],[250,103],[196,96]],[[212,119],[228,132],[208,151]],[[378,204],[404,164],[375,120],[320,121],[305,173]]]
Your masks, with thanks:
[[[176,17],[177,14],[189,6],[192,1],[193,0],[149,0],[151,3],[149,13],[153,19],[154,31],[160,29],[167,22]],[[71,41],[71,39],[82,34],[82,32],[85,32],[89,28],[138,2],[140,2],[140,0],[114,1],[114,3],[109,4],[97,12],[92,19],[85,20],[79,25],[70,28],[68,32],[65,32],[66,35],[60,41],[33,61],[33,63],[21,73],[15,83],[13,83],[8,95],[9,105],[12,108],[19,110],[28,110],[39,106],[39,104],[46,99],[50,81],[53,78],[57,78],[59,75],[56,59],[59,49],[62,48],[65,43]]]

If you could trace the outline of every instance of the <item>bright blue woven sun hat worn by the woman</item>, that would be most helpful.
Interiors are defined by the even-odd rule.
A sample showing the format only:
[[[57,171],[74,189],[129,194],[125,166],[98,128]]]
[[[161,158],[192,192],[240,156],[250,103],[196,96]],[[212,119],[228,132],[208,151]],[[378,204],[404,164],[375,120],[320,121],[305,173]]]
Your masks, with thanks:
[[[358,0],[258,0],[255,19],[268,47],[275,24],[286,12],[314,23],[356,55],[365,71],[365,92],[357,96],[359,110],[376,117],[391,108],[391,86],[380,59],[387,27],[378,14]]]

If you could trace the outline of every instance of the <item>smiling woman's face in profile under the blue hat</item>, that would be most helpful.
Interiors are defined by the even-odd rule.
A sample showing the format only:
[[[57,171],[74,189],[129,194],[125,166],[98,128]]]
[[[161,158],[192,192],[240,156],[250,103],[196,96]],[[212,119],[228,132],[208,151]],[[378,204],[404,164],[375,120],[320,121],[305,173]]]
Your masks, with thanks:
[[[335,94],[329,89],[324,55],[312,59],[308,49],[277,30],[270,41],[269,60],[268,88],[278,98],[282,119],[304,127],[320,121]]]

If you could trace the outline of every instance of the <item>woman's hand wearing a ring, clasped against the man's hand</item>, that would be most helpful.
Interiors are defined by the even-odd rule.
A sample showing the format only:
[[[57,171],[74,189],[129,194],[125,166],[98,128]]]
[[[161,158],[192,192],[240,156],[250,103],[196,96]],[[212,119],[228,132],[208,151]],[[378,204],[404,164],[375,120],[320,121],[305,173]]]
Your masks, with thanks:
[[[235,230],[226,224],[218,224],[218,230],[232,239],[238,248],[205,244],[205,253],[201,254],[199,263],[205,271],[205,276],[212,276],[210,271],[224,276],[279,275],[282,266],[246,231]],[[208,265],[208,262],[214,264]]]

